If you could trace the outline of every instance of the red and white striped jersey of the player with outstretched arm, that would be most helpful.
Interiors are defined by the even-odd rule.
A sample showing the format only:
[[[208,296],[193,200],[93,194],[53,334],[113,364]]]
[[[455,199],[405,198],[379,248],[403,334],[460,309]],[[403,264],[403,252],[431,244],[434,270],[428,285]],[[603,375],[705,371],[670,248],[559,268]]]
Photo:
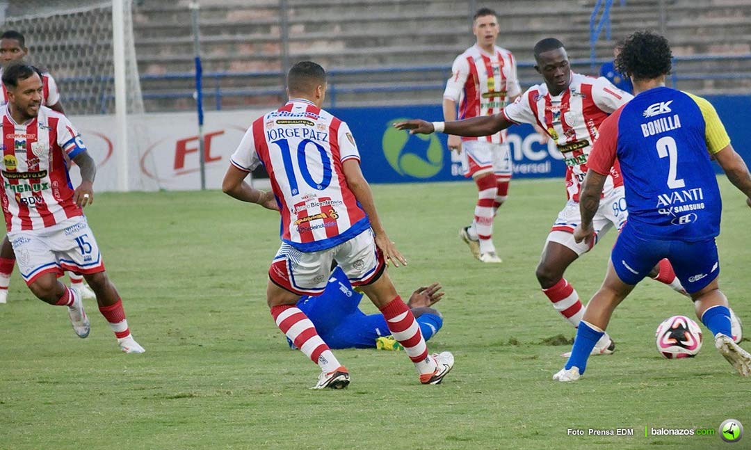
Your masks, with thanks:
[[[587,175],[587,157],[598,136],[597,128],[632,98],[604,77],[572,72],[569,89],[559,95],[550,95],[545,83],[538,84],[527,89],[502,113],[511,122],[539,125],[555,140],[566,162],[566,195],[579,201],[579,189]],[[603,195],[617,186],[623,186],[618,162],[605,182]]]

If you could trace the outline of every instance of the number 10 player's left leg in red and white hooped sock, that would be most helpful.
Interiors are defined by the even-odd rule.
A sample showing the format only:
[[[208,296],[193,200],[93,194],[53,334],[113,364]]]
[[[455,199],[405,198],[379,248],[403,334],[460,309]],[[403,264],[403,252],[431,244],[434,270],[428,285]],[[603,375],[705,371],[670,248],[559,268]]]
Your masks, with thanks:
[[[269,280],[266,302],[279,330],[311,361],[321,367],[321,375],[313,389],[342,389],[349,385],[349,372],[339,364],[329,346],[318,336],[313,322],[296,307],[300,295]]]

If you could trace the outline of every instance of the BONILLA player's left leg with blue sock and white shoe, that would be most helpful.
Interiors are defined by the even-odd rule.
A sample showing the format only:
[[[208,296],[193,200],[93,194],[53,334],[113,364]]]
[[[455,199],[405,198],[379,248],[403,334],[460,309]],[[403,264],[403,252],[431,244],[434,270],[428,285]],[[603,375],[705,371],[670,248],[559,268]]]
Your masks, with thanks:
[[[626,284],[618,277],[613,263],[608,261],[608,274],[602,286],[587,304],[587,310],[577,329],[569,361],[553,375],[553,379],[561,382],[579,379],[587,368],[587,359],[593,349],[599,340],[607,336],[605,328],[608,327],[613,311],[633,288],[633,285]]]

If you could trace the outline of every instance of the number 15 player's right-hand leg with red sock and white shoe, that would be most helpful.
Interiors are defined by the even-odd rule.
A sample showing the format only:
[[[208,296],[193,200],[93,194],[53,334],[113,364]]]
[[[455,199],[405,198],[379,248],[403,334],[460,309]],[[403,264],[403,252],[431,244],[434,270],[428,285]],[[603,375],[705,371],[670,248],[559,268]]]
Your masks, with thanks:
[[[110,282],[107,272],[86,273],[83,277],[96,294],[99,312],[110,324],[120,349],[125,353],[146,352],[131,335],[128,321],[125,319],[125,311],[122,309],[122,300],[115,285]]]

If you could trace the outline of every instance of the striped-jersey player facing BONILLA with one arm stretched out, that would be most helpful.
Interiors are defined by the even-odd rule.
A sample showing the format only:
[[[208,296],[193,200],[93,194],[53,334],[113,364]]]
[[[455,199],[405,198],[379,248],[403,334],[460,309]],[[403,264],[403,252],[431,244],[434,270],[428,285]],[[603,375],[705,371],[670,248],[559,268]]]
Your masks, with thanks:
[[[575,242],[573,237],[576,226],[581,222],[579,189],[587,173],[587,156],[598,136],[597,128],[614,110],[626,104],[632,95],[617,89],[605,78],[585,77],[572,72],[566,49],[557,39],[539,41],[535,45],[535,61],[535,69],[544,78],[544,83],[527,89],[513,104],[493,116],[433,124],[424,120],[410,120],[396,126],[409,129],[412,133],[445,131],[462,136],[487,136],[517,123],[529,123],[538,125],[556,141],[567,165],[566,192],[569,200],[547,236],[535,275],[553,308],[577,327],[584,316],[584,306],[577,291],[563,278],[563,273],[579,256],[591,249],[586,243]],[[620,231],[627,215],[623,180],[616,162],[605,183],[601,207],[593,221],[596,236],[602,236],[614,226]],[[596,239],[592,245],[594,243]],[[660,261],[651,275],[685,294],[667,260]],[[609,354],[613,349],[614,344],[605,334],[594,352]]]

